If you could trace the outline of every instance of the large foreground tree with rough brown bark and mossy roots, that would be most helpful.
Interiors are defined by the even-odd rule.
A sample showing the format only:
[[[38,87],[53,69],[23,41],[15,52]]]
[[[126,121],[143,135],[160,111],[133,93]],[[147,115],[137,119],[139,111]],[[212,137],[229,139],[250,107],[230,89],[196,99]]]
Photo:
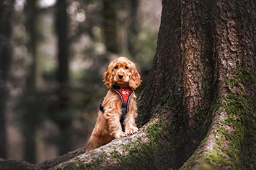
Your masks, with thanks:
[[[138,133],[50,169],[255,169],[255,11],[163,0]]]

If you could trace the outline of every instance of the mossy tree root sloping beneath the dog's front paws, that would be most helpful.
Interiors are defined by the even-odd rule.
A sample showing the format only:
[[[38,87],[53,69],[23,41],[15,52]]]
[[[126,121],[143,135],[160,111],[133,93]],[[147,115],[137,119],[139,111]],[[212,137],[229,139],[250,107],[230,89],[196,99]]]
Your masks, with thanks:
[[[154,169],[156,152],[162,146],[159,138],[169,125],[166,121],[155,117],[132,136],[115,139],[50,169]]]

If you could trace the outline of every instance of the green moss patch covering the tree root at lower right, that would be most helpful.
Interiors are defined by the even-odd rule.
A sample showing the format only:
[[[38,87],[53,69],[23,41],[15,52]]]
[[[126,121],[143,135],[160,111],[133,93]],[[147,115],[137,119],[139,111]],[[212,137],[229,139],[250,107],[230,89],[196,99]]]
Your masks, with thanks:
[[[221,164],[231,169],[241,168],[239,153],[246,129],[243,124],[244,115],[250,111],[250,106],[244,96],[230,93],[223,107],[227,118],[222,122],[216,122],[215,145],[212,152],[204,156],[204,160],[214,166]]]

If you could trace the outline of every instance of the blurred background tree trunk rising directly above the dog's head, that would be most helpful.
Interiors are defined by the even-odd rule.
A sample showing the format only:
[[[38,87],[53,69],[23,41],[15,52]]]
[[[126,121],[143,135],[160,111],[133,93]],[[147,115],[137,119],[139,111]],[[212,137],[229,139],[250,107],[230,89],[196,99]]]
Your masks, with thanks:
[[[135,56],[138,1],[103,0],[103,33],[108,51]]]

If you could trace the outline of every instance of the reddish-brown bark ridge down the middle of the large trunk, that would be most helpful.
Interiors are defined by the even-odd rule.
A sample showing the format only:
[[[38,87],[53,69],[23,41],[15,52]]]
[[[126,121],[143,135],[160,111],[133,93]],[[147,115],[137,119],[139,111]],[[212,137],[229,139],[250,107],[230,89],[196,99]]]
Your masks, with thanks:
[[[209,109],[214,60],[212,58],[212,1],[181,1],[183,106],[189,128],[201,119],[198,112]]]

